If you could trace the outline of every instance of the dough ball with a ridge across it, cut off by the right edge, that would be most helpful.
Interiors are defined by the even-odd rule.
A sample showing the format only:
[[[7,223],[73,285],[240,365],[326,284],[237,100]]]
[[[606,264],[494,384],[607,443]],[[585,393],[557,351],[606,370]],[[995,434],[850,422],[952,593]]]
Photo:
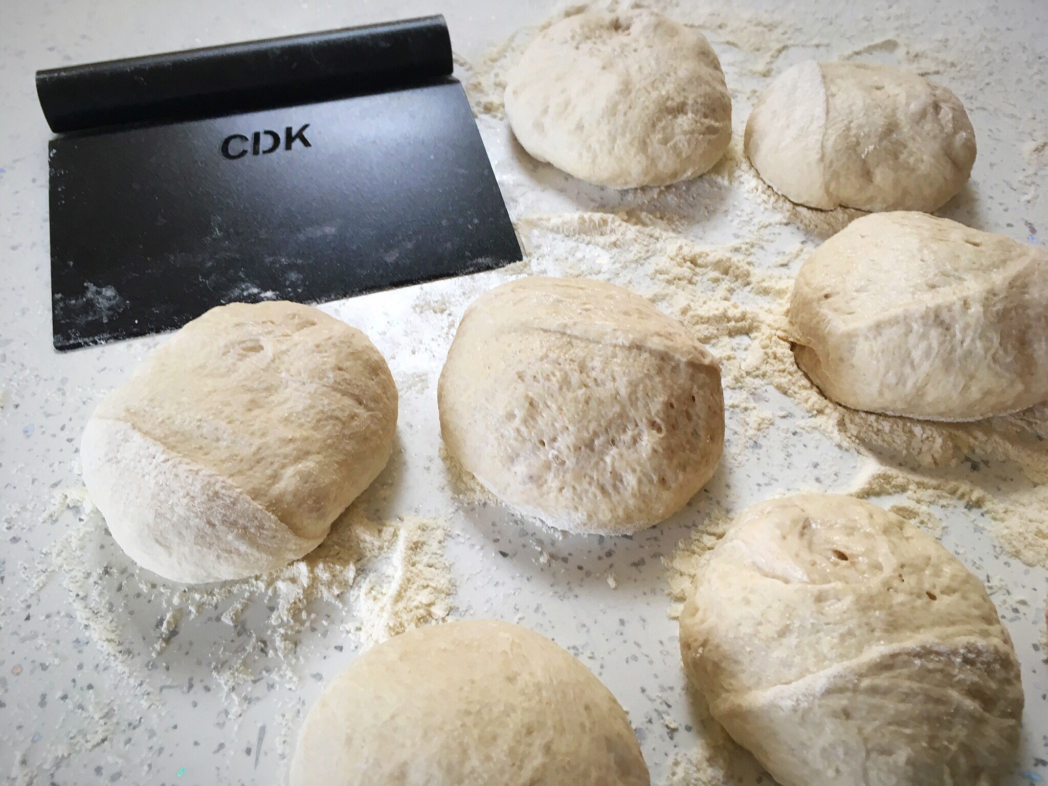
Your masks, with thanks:
[[[1048,252],[924,213],[865,216],[801,266],[798,365],[834,401],[975,420],[1048,399]]]

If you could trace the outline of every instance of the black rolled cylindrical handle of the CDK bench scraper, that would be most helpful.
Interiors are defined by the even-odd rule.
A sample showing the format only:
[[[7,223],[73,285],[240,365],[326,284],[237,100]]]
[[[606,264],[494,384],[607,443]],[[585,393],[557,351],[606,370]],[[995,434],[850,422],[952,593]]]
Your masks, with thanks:
[[[56,133],[332,101],[451,74],[443,17],[37,71]]]

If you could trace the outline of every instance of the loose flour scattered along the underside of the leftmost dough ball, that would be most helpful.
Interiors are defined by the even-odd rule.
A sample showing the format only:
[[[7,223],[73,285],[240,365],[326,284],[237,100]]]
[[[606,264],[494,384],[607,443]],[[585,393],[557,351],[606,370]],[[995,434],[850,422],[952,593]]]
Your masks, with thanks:
[[[300,635],[311,626],[329,625],[327,616],[316,614],[318,603],[358,617],[356,626],[369,645],[447,618],[455,587],[443,555],[446,524],[418,516],[375,520],[367,515],[367,503],[381,495],[381,489],[369,490],[367,501],[343,514],[318,548],[290,565],[250,578],[185,586],[136,567],[114,568],[106,556],[118,547],[86,490],[61,490],[47,515],[56,518],[79,507],[81,521],[48,549],[32,587],[38,591],[51,575],[61,577],[91,639],[147,705],[158,702],[146,682],[153,661],[178,640],[189,620],[209,615],[209,621],[237,631],[208,653],[212,675],[236,715],[243,705],[239,689],[260,674],[297,684],[292,667],[301,660]],[[162,610],[156,625],[137,635],[129,626],[129,591],[151,612]],[[264,610],[265,616],[261,627],[247,630],[243,617],[253,609]]]

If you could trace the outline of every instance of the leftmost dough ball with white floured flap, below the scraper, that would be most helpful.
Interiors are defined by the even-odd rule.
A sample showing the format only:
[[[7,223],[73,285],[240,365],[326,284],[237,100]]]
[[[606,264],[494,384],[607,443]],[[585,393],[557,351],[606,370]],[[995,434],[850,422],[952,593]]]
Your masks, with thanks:
[[[176,582],[242,578],[315,548],[386,465],[397,392],[359,330],[297,303],[193,320],[84,430],[109,531]]]

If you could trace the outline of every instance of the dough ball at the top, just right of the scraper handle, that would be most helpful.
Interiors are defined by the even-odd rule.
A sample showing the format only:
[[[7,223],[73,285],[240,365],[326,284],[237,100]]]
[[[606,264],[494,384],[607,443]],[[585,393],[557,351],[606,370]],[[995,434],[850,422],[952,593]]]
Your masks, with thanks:
[[[701,175],[732,140],[732,99],[709,42],[650,10],[585,12],[541,32],[506,79],[521,146],[617,189]]]

